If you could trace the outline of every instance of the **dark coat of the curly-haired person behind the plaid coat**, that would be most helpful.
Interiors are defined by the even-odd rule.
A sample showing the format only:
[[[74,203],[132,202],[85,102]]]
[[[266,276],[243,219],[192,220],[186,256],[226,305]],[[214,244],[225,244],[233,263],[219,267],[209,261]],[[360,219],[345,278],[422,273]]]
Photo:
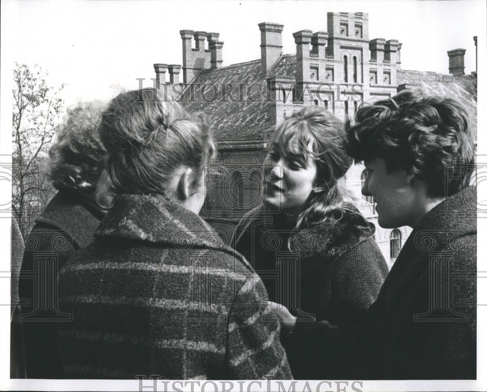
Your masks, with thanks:
[[[66,315],[59,314],[59,308],[54,310],[56,297],[51,294],[48,294],[49,299],[41,299],[46,304],[52,300],[48,306],[50,309],[35,311],[36,300],[40,299],[40,295],[35,294],[35,283],[39,284],[39,290],[45,285],[55,285],[57,271],[71,255],[93,240],[93,233],[102,216],[103,213],[75,191],[59,191],[36,219],[36,225],[25,238],[19,297],[30,301],[29,305],[21,306],[27,378],[62,377],[56,321],[39,320],[69,319]],[[35,266],[35,259],[40,255],[44,255],[43,260],[45,257],[55,260],[51,266],[53,275],[49,275],[48,281],[41,281],[40,275],[36,277],[36,273],[40,274],[42,270],[47,271],[49,268],[45,261],[42,269]]]

